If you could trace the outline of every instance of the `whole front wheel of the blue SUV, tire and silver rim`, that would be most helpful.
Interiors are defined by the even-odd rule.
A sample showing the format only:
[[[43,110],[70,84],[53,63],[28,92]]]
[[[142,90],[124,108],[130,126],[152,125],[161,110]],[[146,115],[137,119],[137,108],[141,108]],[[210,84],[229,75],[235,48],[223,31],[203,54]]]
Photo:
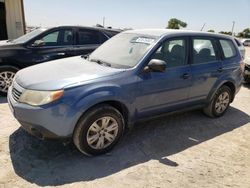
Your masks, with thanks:
[[[76,125],[73,141],[86,155],[99,155],[111,150],[124,131],[122,114],[112,106],[90,109]]]

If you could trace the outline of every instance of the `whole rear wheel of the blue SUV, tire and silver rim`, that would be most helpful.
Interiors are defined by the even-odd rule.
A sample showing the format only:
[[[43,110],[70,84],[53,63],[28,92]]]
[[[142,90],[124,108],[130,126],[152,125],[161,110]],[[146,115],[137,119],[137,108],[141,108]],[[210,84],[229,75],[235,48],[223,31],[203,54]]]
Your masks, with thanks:
[[[232,91],[227,86],[222,86],[215,93],[209,105],[203,109],[204,113],[210,117],[220,117],[228,109],[232,101]]]

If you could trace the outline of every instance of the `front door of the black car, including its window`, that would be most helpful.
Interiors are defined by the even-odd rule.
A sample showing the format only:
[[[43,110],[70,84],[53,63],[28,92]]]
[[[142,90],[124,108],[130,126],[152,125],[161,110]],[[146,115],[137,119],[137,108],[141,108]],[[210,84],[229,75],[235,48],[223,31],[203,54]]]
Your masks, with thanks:
[[[37,64],[74,56],[74,44],[75,32],[73,29],[57,29],[47,32],[28,44],[29,54],[26,54],[26,61]]]

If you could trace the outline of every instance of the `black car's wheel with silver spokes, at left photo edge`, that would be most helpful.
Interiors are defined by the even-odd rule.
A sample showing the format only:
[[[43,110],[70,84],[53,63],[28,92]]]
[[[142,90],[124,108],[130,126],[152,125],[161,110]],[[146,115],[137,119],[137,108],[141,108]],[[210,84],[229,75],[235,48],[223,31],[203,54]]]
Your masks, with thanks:
[[[18,69],[12,66],[0,67],[0,95],[6,96]]]

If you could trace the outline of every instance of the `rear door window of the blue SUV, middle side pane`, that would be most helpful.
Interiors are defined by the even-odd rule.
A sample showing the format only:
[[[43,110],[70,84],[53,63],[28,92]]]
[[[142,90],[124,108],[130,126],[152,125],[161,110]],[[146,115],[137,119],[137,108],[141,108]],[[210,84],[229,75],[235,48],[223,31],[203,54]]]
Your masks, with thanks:
[[[217,59],[215,48],[210,39],[193,39],[193,63],[209,63]]]

